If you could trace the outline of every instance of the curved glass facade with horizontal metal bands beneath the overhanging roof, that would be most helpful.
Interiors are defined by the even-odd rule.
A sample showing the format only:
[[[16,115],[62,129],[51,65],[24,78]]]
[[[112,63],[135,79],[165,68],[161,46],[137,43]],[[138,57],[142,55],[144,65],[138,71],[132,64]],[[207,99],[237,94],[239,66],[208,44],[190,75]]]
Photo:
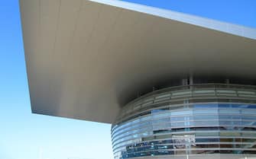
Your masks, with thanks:
[[[112,125],[115,159],[159,155],[255,154],[256,89],[170,87],[128,103]]]

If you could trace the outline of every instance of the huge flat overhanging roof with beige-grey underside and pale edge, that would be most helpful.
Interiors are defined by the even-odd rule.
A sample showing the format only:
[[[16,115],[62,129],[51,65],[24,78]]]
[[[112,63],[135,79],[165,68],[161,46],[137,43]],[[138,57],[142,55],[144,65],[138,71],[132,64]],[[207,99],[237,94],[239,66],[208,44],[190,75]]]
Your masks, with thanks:
[[[256,30],[115,0],[21,0],[33,113],[111,123],[189,75],[256,78]]]

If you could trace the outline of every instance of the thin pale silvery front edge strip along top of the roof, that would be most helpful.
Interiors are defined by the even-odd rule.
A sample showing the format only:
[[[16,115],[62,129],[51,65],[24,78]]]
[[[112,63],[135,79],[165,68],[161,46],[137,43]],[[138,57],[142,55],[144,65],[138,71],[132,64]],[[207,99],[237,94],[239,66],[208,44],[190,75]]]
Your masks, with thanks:
[[[170,11],[162,8],[155,8],[147,5],[139,5],[131,2],[119,0],[89,0],[99,2],[105,5],[112,5],[118,8],[125,8],[131,11],[138,11],[145,14],[151,14],[157,17],[164,17],[173,21],[180,21],[186,24],[193,24],[207,29],[218,30],[224,33],[230,33],[240,37],[246,37],[256,40],[256,28],[245,27],[238,24],[230,24],[223,21],[216,21],[206,17],[199,17],[191,14],[183,14],[177,11]]]

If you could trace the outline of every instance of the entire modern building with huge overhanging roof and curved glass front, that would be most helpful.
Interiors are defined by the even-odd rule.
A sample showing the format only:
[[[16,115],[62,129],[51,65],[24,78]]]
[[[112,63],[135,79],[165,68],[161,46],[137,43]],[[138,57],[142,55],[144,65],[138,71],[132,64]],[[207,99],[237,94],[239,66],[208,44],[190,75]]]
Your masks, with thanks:
[[[256,157],[256,29],[114,0],[20,8],[33,113],[112,124],[115,159]]]

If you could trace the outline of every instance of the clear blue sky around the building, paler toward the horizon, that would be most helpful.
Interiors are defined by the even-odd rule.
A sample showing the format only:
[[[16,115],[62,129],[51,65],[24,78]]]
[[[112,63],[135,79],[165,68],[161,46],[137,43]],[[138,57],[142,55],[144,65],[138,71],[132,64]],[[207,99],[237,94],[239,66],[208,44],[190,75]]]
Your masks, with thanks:
[[[255,0],[127,1],[256,27]],[[18,1],[0,4],[0,158],[112,159],[110,125],[31,114]]]

